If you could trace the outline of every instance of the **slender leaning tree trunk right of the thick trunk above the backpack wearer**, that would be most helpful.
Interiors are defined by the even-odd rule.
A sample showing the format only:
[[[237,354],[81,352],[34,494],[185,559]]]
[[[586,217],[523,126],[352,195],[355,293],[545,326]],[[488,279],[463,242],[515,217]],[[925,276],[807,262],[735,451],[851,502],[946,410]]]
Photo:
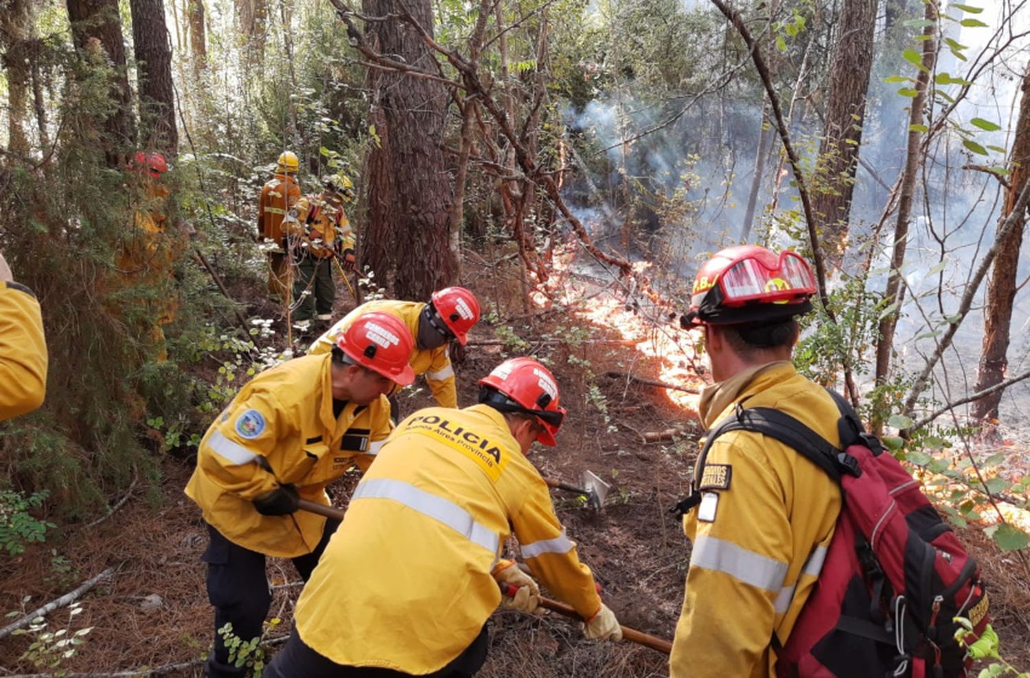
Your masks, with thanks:
[[[877,371],[876,384],[883,386],[890,376],[891,354],[894,350],[894,329],[897,326],[898,315],[901,304],[904,300],[904,289],[901,287],[901,264],[904,263],[905,247],[908,243],[908,221],[912,217],[913,194],[916,189],[916,175],[923,153],[921,151],[922,132],[913,129],[913,126],[923,124],[923,105],[926,102],[926,90],[930,81],[930,72],[936,59],[936,22],[937,22],[937,0],[928,0],[924,15],[929,26],[923,29],[923,35],[928,39],[923,40],[922,65],[926,69],[920,70],[916,77],[916,97],[912,100],[912,108],[908,114],[908,145],[905,153],[904,170],[901,174],[901,192],[898,199],[898,216],[894,226],[894,250],[891,255],[891,273],[887,279],[887,291],[884,293],[884,300],[888,306],[893,305],[893,310],[885,314],[880,320],[879,334],[877,342]],[[872,418],[873,431],[879,434],[883,430],[883,403],[874,407]]]

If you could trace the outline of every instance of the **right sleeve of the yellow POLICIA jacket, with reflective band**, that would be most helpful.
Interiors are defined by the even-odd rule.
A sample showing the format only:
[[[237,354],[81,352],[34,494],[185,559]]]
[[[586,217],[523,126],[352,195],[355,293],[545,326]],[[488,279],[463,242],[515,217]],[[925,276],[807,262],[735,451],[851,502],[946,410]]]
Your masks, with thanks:
[[[580,562],[576,542],[565,536],[554,514],[551,495],[542,478],[526,488],[521,510],[512,519],[525,561],[534,575],[559,600],[572,605],[583,618],[600,609],[590,568]]]

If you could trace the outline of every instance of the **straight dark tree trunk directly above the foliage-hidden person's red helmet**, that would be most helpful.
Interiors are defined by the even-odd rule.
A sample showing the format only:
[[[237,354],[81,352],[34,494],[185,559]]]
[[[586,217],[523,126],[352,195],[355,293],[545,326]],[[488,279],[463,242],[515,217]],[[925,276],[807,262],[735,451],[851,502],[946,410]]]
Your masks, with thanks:
[[[164,0],[130,0],[133,46],[139,81],[140,143],[169,155],[178,149],[172,45]]]

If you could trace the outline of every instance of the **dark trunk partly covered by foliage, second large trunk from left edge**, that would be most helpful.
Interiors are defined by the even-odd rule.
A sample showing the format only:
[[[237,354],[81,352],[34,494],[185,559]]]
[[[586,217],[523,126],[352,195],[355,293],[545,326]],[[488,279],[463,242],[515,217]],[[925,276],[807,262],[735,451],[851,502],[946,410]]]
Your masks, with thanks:
[[[132,90],[126,68],[118,0],[67,0],[68,19],[75,48],[87,62],[106,59],[111,66],[110,96],[113,104],[103,117],[102,141],[107,164],[123,165],[136,145],[136,120]]]

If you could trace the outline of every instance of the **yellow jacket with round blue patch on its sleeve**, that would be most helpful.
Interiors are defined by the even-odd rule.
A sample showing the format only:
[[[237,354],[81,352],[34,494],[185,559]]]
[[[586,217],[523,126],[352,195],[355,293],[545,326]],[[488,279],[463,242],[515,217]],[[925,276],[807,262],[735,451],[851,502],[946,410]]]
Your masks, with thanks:
[[[333,417],[332,356],[305,356],[244,386],[201,440],[186,495],[231,541],[267,556],[310,554],[325,519],[307,511],[262,515],[253,499],[280,484],[329,505],[325,486],[368,469],[390,432],[389,402],[347,403]]]

